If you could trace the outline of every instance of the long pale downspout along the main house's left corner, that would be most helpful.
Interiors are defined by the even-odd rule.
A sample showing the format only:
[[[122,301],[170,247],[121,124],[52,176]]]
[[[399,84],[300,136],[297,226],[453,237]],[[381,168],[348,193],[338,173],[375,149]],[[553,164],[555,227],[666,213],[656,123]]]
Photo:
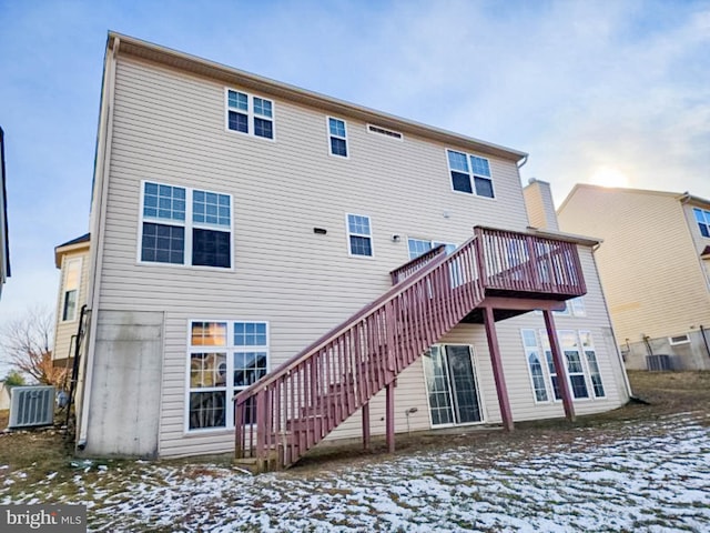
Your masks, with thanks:
[[[109,36],[109,42],[112,37]],[[91,231],[91,240],[94,243],[94,251],[92,252],[93,259],[93,279],[91,280],[91,300],[89,311],[91,312],[91,321],[89,323],[89,339],[87,344],[87,356],[83,360],[83,380],[84,386],[82,388],[82,409],[81,409],[81,423],[79,426],[79,435],[77,439],[77,447],[79,450],[83,450],[87,447],[87,434],[88,434],[88,425],[89,425],[89,405],[91,404],[91,382],[93,380],[93,366],[94,366],[94,352],[95,352],[95,339],[97,339],[97,322],[98,316],[94,315],[93,311],[98,311],[99,309],[99,294],[100,294],[100,280],[101,280],[101,268],[102,268],[102,253],[103,253],[103,230],[105,228],[105,205],[106,198],[109,193],[109,188],[106,187],[106,180],[109,179],[109,170],[111,165],[111,143],[112,143],[112,132],[113,132],[113,103],[115,95],[115,66],[118,61],[119,47],[121,44],[121,40],[118,37],[113,38],[113,50],[109,56],[109,49],[106,44],[106,59],[105,59],[105,95],[108,102],[105,103],[105,123],[103,124],[103,131],[99,131],[99,135],[97,139],[98,150],[102,150],[102,157],[97,158],[95,173],[98,175],[98,180],[95,180],[94,185],[98,188],[94,192],[97,193],[99,201],[94,205],[98,210],[95,213],[95,222],[94,227],[97,231]],[[103,98],[103,94],[102,94]],[[101,121],[101,118],[99,119]],[[101,125],[100,125],[101,128]],[[103,133],[103,145],[99,145],[99,141]],[[93,230],[94,228],[92,228]]]

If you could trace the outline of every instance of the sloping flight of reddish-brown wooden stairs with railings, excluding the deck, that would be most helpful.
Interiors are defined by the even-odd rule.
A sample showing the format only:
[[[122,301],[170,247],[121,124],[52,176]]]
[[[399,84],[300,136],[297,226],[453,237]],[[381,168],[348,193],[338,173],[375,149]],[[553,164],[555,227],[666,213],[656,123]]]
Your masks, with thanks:
[[[484,299],[476,238],[434,257],[235,398],[236,457],[287,467]]]

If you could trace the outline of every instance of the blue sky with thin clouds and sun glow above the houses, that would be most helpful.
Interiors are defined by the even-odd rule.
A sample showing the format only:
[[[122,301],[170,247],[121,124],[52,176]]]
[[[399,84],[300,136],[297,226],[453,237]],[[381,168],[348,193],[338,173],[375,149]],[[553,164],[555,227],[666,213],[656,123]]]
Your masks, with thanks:
[[[12,276],[89,228],[109,30],[530,154],[523,183],[710,198],[710,0],[0,0]]]

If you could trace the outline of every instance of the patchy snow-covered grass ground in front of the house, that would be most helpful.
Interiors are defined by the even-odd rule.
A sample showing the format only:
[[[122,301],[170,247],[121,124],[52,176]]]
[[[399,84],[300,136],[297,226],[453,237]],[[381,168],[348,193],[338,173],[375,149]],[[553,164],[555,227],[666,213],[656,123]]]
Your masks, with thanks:
[[[710,531],[710,418],[505,435],[252,476],[77,463],[0,503],[85,503],[91,531]],[[560,436],[561,435],[561,436]],[[0,480],[2,476],[0,463]],[[17,489],[17,486],[16,486]]]

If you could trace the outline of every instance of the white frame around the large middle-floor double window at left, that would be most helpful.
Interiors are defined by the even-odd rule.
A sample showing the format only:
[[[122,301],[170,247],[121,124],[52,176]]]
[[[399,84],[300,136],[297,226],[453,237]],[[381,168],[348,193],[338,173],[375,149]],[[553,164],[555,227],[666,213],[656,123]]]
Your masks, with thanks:
[[[152,183],[156,185],[166,185],[178,189],[183,189],[185,191],[185,220],[179,221],[173,219],[161,219],[153,217],[144,215],[144,207],[145,207],[145,184]],[[229,229],[226,225],[221,224],[211,224],[207,222],[194,222],[193,221],[193,199],[194,192],[205,192],[205,193],[214,193],[220,195],[226,195],[230,199],[230,225]],[[143,224],[148,222],[151,224],[159,225],[171,225],[174,228],[183,228],[184,229],[184,250],[183,250],[183,262],[182,263],[170,263],[170,262],[161,262],[161,261],[143,261],[142,251],[143,251]],[[207,264],[192,264],[192,230],[212,230],[212,231],[221,231],[223,233],[230,234],[230,265],[229,266],[212,266]],[[150,266],[172,266],[172,268],[190,268],[190,269],[209,269],[216,270],[220,272],[224,271],[233,271],[234,270],[234,198],[229,192],[220,192],[220,191],[210,191],[206,189],[191,188],[185,185],[175,185],[171,183],[164,183],[153,180],[141,180],[141,194],[140,194],[140,203],[139,203],[139,223],[138,223],[138,242],[136,242],[136,262],[140,265],[150,265]]]

